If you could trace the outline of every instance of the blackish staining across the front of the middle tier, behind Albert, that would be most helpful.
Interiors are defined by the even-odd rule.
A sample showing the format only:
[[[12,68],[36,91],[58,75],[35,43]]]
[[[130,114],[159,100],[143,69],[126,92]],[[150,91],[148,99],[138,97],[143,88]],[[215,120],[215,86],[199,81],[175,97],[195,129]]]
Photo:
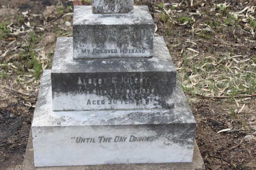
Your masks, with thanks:
[[[116,100],[121,101],[121,104],[142,105],[144,100],[146,104],[154,102],[156,108],[172,108],[173,103],[166,101],[172,96],[175,85],[173,80],[175,79],[168,82],[166,75],[161,72],[59,73],[52,74],[52,91],[57,95],[62,92],[106,96],[108,101],[104,101],[104,104],[111,104]],[[91,101],[85,101],[85,104],[86,102],[94,104]]]

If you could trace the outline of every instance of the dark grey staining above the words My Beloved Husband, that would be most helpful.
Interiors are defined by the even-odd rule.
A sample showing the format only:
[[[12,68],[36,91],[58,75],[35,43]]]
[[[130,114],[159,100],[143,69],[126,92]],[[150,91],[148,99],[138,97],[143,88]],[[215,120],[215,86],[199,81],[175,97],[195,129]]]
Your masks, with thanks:
[[[137,49],[151,49],[153,53],[154,26],[150,25],[92,25],[74,27],[74,44],[83,42],[85,44],[94,44],[96,48],[106,49],[106,44],[115,44],[118,47],[118,53],[126,50],[128,47]],[[126,36],[124,36],[126,35]],[[145,39],[146,37],[146,39]],[[143,43],[142,43],[143,42]],[[148,46],[145,47],[144,44]],[[79,45],[82,47],[82,45]],[[75,46],[77,49],[77,46]],[[91,48],[92,50],[93,48]]]

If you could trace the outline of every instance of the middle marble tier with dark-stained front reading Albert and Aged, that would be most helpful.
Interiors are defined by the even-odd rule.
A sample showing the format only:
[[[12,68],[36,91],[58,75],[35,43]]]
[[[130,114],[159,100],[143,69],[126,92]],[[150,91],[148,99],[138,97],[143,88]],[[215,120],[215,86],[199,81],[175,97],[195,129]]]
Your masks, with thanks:
[[[74,60],[72,38],[58,38],[53,110],[173,108],[176,70],[163,37],[149,59]]]

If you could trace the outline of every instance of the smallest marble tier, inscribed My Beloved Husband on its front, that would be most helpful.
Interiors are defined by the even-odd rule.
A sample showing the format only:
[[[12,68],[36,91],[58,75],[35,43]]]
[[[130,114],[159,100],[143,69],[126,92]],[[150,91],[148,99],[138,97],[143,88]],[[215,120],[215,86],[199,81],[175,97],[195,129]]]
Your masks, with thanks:
[[[133,13],[93,14],[91,6],[75,6],[74,59],[148,58],[153,54],[154,21],[147,6]]]

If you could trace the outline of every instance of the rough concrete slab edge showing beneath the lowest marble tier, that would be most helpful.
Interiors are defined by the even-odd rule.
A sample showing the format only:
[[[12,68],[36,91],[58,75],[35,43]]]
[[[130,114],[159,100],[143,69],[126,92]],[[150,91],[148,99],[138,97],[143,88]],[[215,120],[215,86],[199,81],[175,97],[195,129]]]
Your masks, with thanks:
[[[27,149],[22,170],[204,170],[204,161],[195,142],[193,163],[161,163],[161,164],[114,164],[114,165],[90,165],[90,166],[52,166],[35,167],[32,133],[28,137]]]

